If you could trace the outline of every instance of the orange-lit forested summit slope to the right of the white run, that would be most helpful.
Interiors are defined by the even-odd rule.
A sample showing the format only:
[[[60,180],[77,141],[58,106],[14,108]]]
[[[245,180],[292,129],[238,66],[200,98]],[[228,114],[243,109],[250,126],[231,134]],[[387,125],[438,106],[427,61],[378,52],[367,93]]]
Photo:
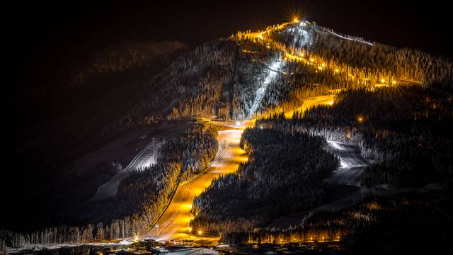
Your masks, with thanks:
[[[265,47],[265,52],[280,52],[285,62],[258,113],[288,111],[301,106],[303,98],[328,94],[332,89],[414,83],[451,89],[451,60],[418,50],[344,40],[327,30],[314,24],[288,25],[268,30],[261,39],[246,33],[231,36],[246,54],[253,55],[253,61],[265,55]]]

